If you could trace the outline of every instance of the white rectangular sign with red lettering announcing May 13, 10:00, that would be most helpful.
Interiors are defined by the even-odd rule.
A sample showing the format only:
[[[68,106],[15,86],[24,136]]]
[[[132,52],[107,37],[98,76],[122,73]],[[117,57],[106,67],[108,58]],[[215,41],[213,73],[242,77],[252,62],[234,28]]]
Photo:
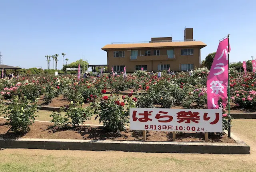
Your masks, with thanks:
[[[222,132],[222,109],[130,108],[130,130]]]

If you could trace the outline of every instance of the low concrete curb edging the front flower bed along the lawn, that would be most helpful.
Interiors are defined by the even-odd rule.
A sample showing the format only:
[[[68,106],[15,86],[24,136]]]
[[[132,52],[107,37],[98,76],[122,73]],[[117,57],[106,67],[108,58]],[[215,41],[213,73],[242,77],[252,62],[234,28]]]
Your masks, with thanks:
[[[234,136],[234,134],[232,134],[231,137],[237,142],[236,144],[21,138],[17,140],[0,139],[0,148],[93,151],[118,150],[124,152],[153,153],[250,154],[250,146]]]

